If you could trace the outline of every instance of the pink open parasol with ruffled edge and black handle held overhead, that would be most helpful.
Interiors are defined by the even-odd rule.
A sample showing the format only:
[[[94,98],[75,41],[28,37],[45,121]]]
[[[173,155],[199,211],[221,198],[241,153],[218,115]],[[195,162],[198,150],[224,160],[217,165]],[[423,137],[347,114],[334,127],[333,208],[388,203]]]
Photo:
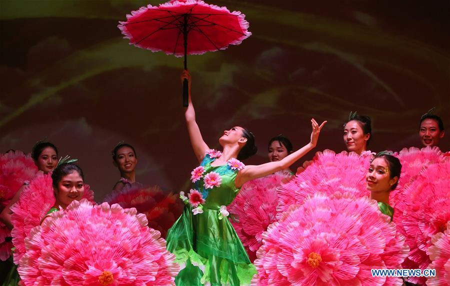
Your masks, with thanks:
[[[225,49],[251,35],[245,15],[201,0],[171,0],[147,5],[126,15],[118,28],[130,44],[151,51],[184,56]],[[189,40],[187,40],[189,38]],[[187,44],[189,42],[189,44]],[[183,106],[187,106],[187,80],[183,82]]]

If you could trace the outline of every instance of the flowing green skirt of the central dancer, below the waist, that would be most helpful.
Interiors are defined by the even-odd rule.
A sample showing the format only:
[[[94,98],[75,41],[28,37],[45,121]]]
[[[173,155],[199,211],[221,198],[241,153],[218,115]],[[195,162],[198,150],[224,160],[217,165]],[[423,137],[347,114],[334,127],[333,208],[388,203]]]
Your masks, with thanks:
[[[249,284],[256,274],[231,223],[219,219],[217,209],[203,208],[192,214],[186,205],[181,216],[167,232],[167,250],[178,263],[186,263],[175,278],[178,286]]]

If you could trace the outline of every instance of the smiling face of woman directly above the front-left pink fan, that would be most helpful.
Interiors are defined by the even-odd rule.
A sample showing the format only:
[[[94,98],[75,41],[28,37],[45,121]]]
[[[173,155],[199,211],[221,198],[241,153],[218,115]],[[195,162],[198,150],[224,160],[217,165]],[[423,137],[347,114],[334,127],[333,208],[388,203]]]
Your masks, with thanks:
[[[77,171],[61,177],[57,187],[54,188],[56,204],[62,208],[67,207],[73,200],[80,200],[84,194],[83,178]]]

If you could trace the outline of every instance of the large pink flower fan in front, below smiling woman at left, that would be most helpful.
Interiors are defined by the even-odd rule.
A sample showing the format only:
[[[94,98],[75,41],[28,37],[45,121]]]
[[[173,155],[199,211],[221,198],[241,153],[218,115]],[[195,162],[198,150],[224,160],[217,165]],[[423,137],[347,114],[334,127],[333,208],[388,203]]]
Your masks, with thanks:
[[[25,285],[173,285],[175,255],[144,214],[83,199],[53,212],[26,238]]]

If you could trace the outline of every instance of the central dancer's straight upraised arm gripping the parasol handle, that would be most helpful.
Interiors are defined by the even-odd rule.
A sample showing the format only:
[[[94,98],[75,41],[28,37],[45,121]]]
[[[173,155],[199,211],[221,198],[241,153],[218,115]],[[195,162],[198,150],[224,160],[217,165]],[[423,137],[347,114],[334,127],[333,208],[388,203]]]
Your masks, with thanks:
[[[197,122],[195,121],[195,110],[192,105],[192,99],[190,98],[190,74],[187,70],[183,70],[181,73],[181,82],[186,78],[189,87],[189,101],[188,106],[184,108],[184,118],[186,119],[187,132],[189,133],[190,143],[192,149],[197,157],[198,162],[201,162],[204,154],[209,150],[208,145],[203,141],[203,137],[200,133],[200,128],[198,128]]]

